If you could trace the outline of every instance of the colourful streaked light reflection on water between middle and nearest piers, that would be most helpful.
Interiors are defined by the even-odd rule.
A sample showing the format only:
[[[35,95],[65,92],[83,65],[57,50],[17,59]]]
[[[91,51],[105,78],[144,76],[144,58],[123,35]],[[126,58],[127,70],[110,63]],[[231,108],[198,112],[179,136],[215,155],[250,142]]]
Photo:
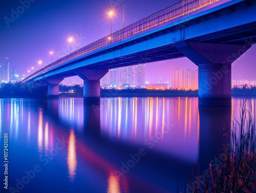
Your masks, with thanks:
[[[197,158],[197,98],[102,98],[100,106],[102,136],[143,146],[150,140],[154,148],[167,154]]]

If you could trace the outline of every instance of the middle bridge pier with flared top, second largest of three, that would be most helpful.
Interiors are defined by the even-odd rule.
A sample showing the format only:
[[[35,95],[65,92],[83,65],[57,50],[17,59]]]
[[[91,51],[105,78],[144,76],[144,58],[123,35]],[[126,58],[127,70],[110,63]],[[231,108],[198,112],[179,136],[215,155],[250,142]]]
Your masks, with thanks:
[[[100,98],[100,79],[109,70],[78,69],[76,74],[83,79],[83,98]]]

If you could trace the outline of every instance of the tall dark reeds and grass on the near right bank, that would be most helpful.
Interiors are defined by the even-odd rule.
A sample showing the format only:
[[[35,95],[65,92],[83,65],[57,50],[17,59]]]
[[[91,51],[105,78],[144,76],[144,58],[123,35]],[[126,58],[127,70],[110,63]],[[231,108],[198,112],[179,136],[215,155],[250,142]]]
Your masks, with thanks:
[[[225,153],[219,155],[215,166],[209,164],[205,176],[199,176],[199,170],[193,168],[197,178],[187,178],[185,192],[256,192],[256,115],[254,107],[249,106],[246,109],[246,100],[241,102],[240,120],[234,118],[226,131],[230,144],[225,145]]]

